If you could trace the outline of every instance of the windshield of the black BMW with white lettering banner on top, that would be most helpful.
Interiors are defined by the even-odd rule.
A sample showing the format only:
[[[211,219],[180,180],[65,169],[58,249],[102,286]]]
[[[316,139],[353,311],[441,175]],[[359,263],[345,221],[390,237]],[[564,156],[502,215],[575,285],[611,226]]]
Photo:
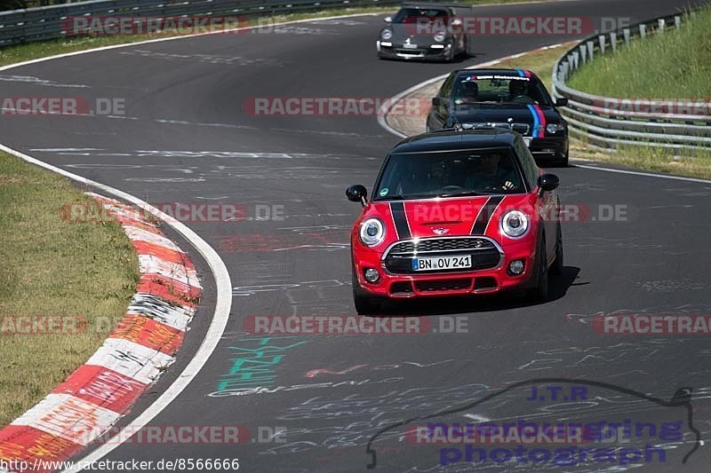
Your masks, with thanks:
[[[507,75],[460,75],[451,98],[455,105],[464,106],[483,103],[550,105],[539,80]]]

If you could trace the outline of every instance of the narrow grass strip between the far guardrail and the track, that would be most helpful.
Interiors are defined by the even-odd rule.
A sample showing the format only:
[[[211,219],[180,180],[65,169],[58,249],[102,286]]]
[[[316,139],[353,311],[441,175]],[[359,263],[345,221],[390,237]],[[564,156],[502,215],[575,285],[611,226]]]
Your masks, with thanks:
[[[543,0],[533,0],[525,2],[522,0],[465,0],[462,3],[473,5],[485,4],[519,4],[519,3],[537,3]],[[356,15],[364,13],[383,13],[387,14],[395,12],[397,5],[385,7],[357,7],[357,8],[340,8],[331,10],[322,10],[318,12],[299,12],[284,15],[264,16],[259,18],[250,18],[252,24],[270,24],[281,23],[284,21],[319,19],[331,16],[340,15]],[[245,26],[247,26],[245,24]],[[373,31],[373,38],[377,35],[377,31]],[[165,31],[155,35],[112,35],[112,36],[76,36],[68,39],[41,41],[36,43],[19,44],[17,46],[9,46],[0,49],[0,66],[7,66],[17,62],[23,62],[31,59],[46,58],[57,54],[66,54],[68,52],[85,51],[103,46],[113,46],[116,44],[137,43],[150,39],[159,39],[164,37],[180,36],[178,31]]]

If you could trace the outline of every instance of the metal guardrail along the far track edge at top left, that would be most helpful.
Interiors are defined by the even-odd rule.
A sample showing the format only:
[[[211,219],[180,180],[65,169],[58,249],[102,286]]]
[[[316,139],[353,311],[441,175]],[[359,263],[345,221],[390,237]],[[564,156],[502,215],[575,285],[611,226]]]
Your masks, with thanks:
[[[66,28],[67,20],[72,17],[177,18],[225,15],[242,18],[400,3],[400,0],[94,0],[0,12],[0,47],[65,38],[68,33],[73,33]]]

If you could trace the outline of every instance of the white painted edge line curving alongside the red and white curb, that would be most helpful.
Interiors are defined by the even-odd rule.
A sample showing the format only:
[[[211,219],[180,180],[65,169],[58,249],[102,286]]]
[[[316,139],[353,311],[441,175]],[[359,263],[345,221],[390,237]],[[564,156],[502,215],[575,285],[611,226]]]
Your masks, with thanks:
[[[222,261],[217,252],[202,238],[200,238],[195,232],[190,230],[187,225],[182,224],[173,217],[170,217],[164,212],[156,209],[145,201],[141,201],[139,198],[134,197],[129,193],[124,193],[108,185],[103,185],[98,182],[92,181],[85,177],[78,176],[64,169],[57,168],[48,164],[46,162],[39,161],[28,154],[20,153],[19,151],[13,150],[4,145],[0,145],[0,150],[5,153],[17,156],[20,159],[35,164],[41,168],[50,170],[60,176],[68,177],[69,179],[75,180],[76,182],[82,183],[84,185],[91,185],[92,187],[99,189],[104,193],[109,193],[119,199],[124,201],[129,201],[134,205],[139,206],[157,218],[163,220],[166,224],[172,226],[175,231],[180,233],[186,240],[190,242],[193,247],[197,249],[201,256],[204,257],[207,262],[212,274],[215,278],[215,283],[217,286],[217,301],[215,304],[215,311],[212,317],[212,322],[210,327],[207,329],[207,333],[204,336],[203,343],[197,349],[195,356],[190,359],[188,366],[180,373],[174,382],[164,391],[159,398],[156,399],[148,408],[143,411],[138,417],[136,417],[126,429],[130,432],[137,432],[143,428],[148,422],[150,422],[157,414],[160,414],[165,407],[169,406],[172,401],[180,395],[180,392],[185,390],[188,384],[196,377],[200,370],[204,367],[207,360],[212,355],[212,352],[217,347],[220,342],[220,338],[225,331],[229,319],[229,311],[232,306],[232,282],[229,279],[229,273],[227,266]],[[104,444],[101,445],[96,450],[92,451],[88,455],[81,459],[81,462],[90,462],[99,460],[101,457],[113,451],[117,446],[123,445],[122,443],[116,444]],[[78,467],[79,461],[75,463],[75,467],[72,469],[65,469],[64,471],[80,471],[82,468]]]

